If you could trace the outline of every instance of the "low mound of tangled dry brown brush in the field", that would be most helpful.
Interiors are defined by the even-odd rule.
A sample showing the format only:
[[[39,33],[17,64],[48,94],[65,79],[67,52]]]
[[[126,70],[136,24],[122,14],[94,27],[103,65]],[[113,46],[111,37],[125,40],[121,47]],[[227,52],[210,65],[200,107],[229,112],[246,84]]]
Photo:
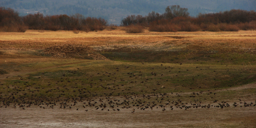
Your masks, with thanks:
[[[42,53],[50,57],[108,60],[103,55],[96,53],[90,46],[81,44],[55,45],[44,49]]]

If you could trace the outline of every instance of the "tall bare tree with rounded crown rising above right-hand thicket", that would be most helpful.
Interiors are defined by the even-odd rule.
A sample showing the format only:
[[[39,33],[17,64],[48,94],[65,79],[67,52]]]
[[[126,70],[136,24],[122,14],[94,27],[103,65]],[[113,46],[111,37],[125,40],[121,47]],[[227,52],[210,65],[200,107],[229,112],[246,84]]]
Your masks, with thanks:
[[[172,19],[179,16],[187,17],[189,16],[189,13],[187,8],[181,8],[179,5],[172,5],[166,7],[164,16],[166,19]]]

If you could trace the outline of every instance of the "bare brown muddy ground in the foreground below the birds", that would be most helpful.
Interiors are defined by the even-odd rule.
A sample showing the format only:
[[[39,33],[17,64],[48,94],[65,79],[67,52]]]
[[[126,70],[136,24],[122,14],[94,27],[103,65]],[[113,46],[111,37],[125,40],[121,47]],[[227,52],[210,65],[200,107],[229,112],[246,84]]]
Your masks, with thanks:
[[[247,84],[235,88],[229,88],[224,90],[214,90],[214,92],[231,91],[231,90],[243,90],[248,88],[256,88],[255,84]],[[180,93],[182,96],[186,93]],[[165,96],[172,96],[175,94],[167,94]],[[135,99],[141,99],[143,97],[135,97]],[[156,98],[156,97],[152,97]],[[98,101],[95,99],[94,101]],[[102,103],[107,103],[108,100],[125,100],[124,97],[110,97],[107,100],[103,100]],[[131,100],[131,99],[129,99]],[[227,103],[230,106],[224,108],[214,107],[218,103],[202,103],[201,106],[211,104],[210,108],[189,108],[185,110],[176,108],[171,110],[170,106],[150,109],[137,109],[136,106],[131,108],[121,108],[115,106],[115,108],[103,107],[96,110],[95,106],[82,107],[83,102],[77,102],[76,106],[72,108],[59,108],[57,102],[53,108],[44,106],[45,109],[40,108],[37,105],[30,107],[14,107],[13,104],[5,108],[0,108],[0,127],[5,128],[176,128],[176,127],[256,127],[256,106],[255,97],[242,98],[241,101],[229,100]],[[237,102],[239,105],[234,107],[232,104]],[[244,106],[244,103],[251,106]],[[227,104],[225,103],[225,104]],[[71,104],[71,102],[67,103]],[[73,104],[73,103],[72,103]],[[87,101],[86,101],[87,104]],[[146,104],[146,103],[145,103]],[[97,105],[97,104],[96,104]],[[187,105],[189,106],[189,105]],[[24,109],[22,109],[24,108]],[[117,108],[120,110],[117,111]],[[141,107],[140,107],[141,108]],[[166,110],[164,110],[164,108]],[[78,110],[77,110],[78,109]],[[115,109],[115,111],[113,110]],[[133,109],[135,111],[133,112]],[[88,110],[88,111],[85,111]],[[109,111],[108,111],[109,110]],[[164,111],[163,111],[164,110]],[[133,113],[132,113],[133,112]]]

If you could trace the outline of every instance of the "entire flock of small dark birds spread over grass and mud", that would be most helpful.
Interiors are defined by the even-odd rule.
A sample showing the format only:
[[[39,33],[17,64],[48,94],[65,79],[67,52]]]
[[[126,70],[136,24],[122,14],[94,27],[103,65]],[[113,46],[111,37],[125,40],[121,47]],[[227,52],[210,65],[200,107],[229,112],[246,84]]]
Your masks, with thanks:
[[[180,63],[182,65],[182,63]],[[163,66],[161,64],[161,66]],[[125,67],[127,70],[129,67]],[[163,69],[173,69],[174,67],[164,67]],[[195,67],[198,69],[199,67]],[[154,69],[154,68],[152,68]],[[179,68],[180,69],[180,68]],[[116,72],[120,69],[116,68]],[[188,71],[187,69],[186,71]],[[199,69],[202,70],[202,69]],[[180,71],[177,71],[179,73]],[[104,83],[108,78],[108,84],[96,84],[95,76],[87,76],[85,82],[81,81],[77,83],[74,81],[78,81],[80,78],[73,78],[71,74],[76,74],[77,71],[68,71],[67,74],[62,74],[57,82],[47,82],[45,87],[36,86],[36,83],[33,83],[35,79],[43,79],[40,77],[33,78],[30,77],[23,78],[22,76],[17,76],[19,78],[12,85],[6,85],[4,82],[0,82],[1,86],[5,93],[1,92],[0,96],[0,107],[7,108],[21,108],[26,109],[30,106],[38,106],[39,108],[58,108],[58,109],[76,109],[76,110],[84,110],[89,111],[92,109],[101,110],[101,111],[121,111],[123,109],[130,109],[132,113],[135,110],[146,110],[146,109],[159,109],[162,111],[165,110],[175,110],[175,109],[198,109],[198,108],[229,108],[229,107],[255,107],[255,102],[239,102],[228,103],[226,101],[219,102],[218,100],[212,101],[209,103],[204,103],[203,101],[199,101],[195,97],[202,94],[216,95],[214,92],[208,91],[200,91],[200,92],[191,92],[189,96],[186,98],[190,98],[188,101],[180,100],[179,97],[184,97],[183,93],[163,93],[159,90],[159,88],[165,88],[164,85],[160,84],[160,82],[156,81],[154,83],[154,88],[148,89],[150,92],[141,89],[139,92],[144,94],[138,94],[137,92],[132,92],[137,90],[135,86],[125,86],[124,84],[116,84],[117,80],[119,82],[126,82],[128,84],[144,84],[146,82],[150,83],[152,77],[163,76],[163,74],[158,74],[156,72],[151,72],[150,75],[152,77],[148,77],[148,79],[142,80],[140,82],[135,81],[136,79],[143,77],[143,73],[139,71],[137,74],[128,72],[127,76],[129,78],[126,79],[117,79],[116,73],[97,73],[96,76],[101,75],[101,79],[98,79],[99,83]],[[215,73],[215,71],[214,71]],[[44,75],[44,73],[42,73]],[[71,76],[71,78],[69,78]],[[86,76],[86,75],[85,75]],[[176,75],[177,76],[177,75]],[[99,77],[97,77],[99,78]],[[194,78],[193,78],[194,79]],[[168,81],[168,79],[159,79]],[[39,80],[40,83],[41,80]],[[65,82],[65,84],[63,84]],[[22,84],[23,88],[20,86]],[[55,85],[53,85],[55,84]],[[40,85],[40,84],[39,84]],[[61,86],[59,86],[61,85]],[[53,87],[56,86],[56,88]],[[86,87],[85,87],[86,86]],[[47,88],[49,87],[49,88]],[[135,88],[135,89],[133,89]],[[146,87],[148,88],[148,86]],[[97,90],[102,91],[102,93],[97,93],[94,91]],[[58,96],[55,97],[47,97],[46,95],[38,95],[34,94],[36,92],[40,92],[42,90],[46,90],[47,93],[57,93]],[[91,91],[90,91],[91,90]],[[143,91],[144,90],[144,91]],[[174,89],[175,90],[175,89]],[[114,93],[115,91],[115,93]],[[74,94],[68,97],[65,95]],[[29,97],[26,97],[29,95]],[[194,98],[193,102],[191,102],[191,98]],[[174,100],[175,99],[175,100]]]

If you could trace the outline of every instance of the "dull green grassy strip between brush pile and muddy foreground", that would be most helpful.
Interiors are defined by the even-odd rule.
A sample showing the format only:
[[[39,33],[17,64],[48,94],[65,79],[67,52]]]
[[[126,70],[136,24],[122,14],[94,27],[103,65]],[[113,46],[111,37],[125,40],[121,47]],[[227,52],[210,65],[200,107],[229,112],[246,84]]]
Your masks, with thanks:
[[[51,63],[56,65],[58,61]],[[254,65],[161,64],[91,60],[49,68],[1,81],[1,97],[11,93],[27,98],[177,93],[229,88],[256,81]],[[38,67],[37,64],[27,66]]]

